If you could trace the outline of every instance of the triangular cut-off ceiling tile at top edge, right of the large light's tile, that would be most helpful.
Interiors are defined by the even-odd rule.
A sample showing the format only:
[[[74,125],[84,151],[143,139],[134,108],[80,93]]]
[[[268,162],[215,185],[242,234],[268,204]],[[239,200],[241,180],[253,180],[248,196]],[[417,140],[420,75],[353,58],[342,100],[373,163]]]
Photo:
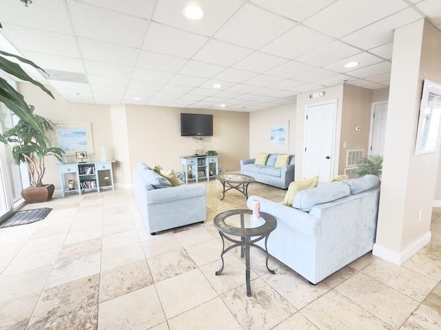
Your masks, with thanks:
[[[307,19],[311,14],[322,10],[334,1],[335,0],[249,0],[249,2],[256,3],[256,5],[267,8],[279,15],[289,17],[289,19],[293,19],[297,22]]]

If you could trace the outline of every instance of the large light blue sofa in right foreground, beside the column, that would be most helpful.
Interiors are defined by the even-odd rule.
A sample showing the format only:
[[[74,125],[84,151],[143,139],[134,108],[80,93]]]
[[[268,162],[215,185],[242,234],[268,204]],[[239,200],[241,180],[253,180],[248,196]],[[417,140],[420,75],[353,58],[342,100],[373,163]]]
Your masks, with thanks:
[[[247,207],[258,199],[260,210],[277,219],[269,254],[316,284],[372,250],[379,184],[375,175],[365,175],[300,190],[293,207],[257,196],[247,199]]]

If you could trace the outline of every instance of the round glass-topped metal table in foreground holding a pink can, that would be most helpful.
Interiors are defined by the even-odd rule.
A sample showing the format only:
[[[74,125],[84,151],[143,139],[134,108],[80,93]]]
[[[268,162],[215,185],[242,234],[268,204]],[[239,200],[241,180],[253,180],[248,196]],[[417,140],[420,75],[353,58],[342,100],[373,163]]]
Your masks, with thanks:
[[[219,231],[219,235],[222,238],[222,252],[220,253],[222,267],[216,272],[216,275],[220,275],[223,271],[223,255],[229,250],[240,246],[240,257],[243,258],[245,254],[247,296],[251,297],[249,247],[254,246],[267,254],[265,265],[267,266],[268,272],[275,274],[274,270],[270,270],[268,267],[269,253],[267,250],[267,240],[269,234],[277,227],[276,218],[271,214],[260,212],[260,218],[254,219],[252,210],[229,210],[219,213],[214,217],[214,227]],[[234,236],[238,236],[238,239],[234,239]],[[225,249],[225,239],[234,244]],[[265,239],[265,248],[261,248],[255,244],[261,239]]]

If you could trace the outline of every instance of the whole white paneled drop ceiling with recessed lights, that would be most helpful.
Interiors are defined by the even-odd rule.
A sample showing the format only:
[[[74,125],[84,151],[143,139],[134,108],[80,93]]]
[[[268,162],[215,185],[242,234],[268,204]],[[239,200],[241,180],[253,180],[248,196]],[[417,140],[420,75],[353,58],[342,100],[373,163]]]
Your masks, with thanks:
[[[68,102],[256,111],[389,86],[393,30],[424,17],[441,29],[441,1],[2,0],[0,45]]]

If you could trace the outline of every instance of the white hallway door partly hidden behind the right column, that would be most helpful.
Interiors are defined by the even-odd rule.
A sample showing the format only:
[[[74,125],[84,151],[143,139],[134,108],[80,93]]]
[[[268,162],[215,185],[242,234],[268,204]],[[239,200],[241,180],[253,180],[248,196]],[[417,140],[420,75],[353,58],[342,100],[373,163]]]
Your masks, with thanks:
[[[372,103],[371,147],[369,155],[384,155],[386,136],[387,102]]]

